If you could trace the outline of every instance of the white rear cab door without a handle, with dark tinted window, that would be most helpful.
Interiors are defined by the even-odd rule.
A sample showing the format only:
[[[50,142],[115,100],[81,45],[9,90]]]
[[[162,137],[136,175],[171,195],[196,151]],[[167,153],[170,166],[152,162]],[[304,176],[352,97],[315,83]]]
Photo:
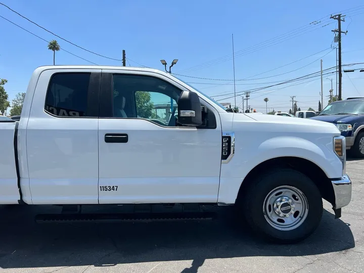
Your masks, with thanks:
[[[40,74],[26,129],[33,204],[98,203],[100,79],[101,69]]]

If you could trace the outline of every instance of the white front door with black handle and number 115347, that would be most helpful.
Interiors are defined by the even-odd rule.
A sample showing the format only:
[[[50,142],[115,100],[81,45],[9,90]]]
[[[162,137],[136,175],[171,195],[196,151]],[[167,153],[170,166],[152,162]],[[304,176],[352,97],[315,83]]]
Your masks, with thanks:
[[[219,116],[210,106],[210,128],[176,126],[182,89],[156,73],[103,70],[100,204],[217,202]]]

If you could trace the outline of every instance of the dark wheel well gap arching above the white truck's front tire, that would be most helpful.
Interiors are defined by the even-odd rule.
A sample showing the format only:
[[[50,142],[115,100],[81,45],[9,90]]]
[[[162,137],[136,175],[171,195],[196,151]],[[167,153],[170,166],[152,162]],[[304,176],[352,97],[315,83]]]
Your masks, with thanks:
[[[271,169],[287,167],[308,176],[319,188],[321,196],[331,204],[335,204],[334,189],[331,180],[326,176],[325,172],[313,162],[299,157],[278,157],[255,166],[244,178],[238,197],[243,194],[244,189],[249,187],[251,181],[254,181],[257,176]]]

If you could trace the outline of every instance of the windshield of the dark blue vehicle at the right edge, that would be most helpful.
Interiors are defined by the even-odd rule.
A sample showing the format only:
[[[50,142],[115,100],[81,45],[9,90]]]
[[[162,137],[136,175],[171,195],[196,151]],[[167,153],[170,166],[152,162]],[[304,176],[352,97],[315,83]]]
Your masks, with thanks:
[[[340,101],[329,104],[319,116],[322,115],[345,115],[345,114],[364,114],[364,101]]]

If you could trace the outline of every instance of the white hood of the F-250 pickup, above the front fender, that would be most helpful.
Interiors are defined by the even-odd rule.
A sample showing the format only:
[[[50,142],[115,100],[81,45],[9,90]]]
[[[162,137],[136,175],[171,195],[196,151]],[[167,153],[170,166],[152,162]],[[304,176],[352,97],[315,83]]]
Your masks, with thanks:
[[[244,118],[242,117],[244,116]],[[319,120],[312,120],[309,118],[285,117],[276,115],[256,115],[256,114],[234,114],[234,123],[239,123],[241,120],[246,120],[249,117],[251,120],[258,121],[258,123],[269,124],[269,127],[275,130],[285,131],[304,131],[304,132],[330,132],[339,133],[339,129],[332,123],[323,122]]]

